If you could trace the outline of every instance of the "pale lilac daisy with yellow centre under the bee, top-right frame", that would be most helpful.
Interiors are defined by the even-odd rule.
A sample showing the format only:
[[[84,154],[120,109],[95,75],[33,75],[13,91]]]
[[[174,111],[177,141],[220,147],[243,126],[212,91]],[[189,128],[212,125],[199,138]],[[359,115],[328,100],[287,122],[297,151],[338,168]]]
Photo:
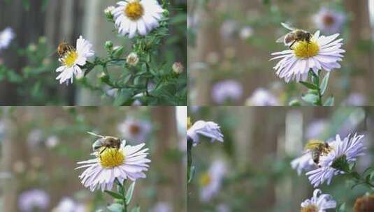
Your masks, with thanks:
[[[292,50],[275,52],[273,59],[281,59],[274,67],[276,74],[284,78],[285,82],[295,80],[296,82],[305,81],[308,78],[310,69],[316,74],[318,70],[331,71],[333,68],[340,68],[338,61],[342,61],[345,50],[340,47],[343,45],[339,34],[332,36],[319,36],[317,31],[310,43],[299,41],[292,45]]]

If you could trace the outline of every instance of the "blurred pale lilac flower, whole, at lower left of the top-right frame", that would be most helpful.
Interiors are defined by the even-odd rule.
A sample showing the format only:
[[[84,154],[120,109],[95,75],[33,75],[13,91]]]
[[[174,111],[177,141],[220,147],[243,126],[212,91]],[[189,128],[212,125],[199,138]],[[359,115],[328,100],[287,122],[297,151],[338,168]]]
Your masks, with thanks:
[[[243,86],[233,79],[217,82],[212,88],[212,98],[217,104],[238,101],[243,96]]]

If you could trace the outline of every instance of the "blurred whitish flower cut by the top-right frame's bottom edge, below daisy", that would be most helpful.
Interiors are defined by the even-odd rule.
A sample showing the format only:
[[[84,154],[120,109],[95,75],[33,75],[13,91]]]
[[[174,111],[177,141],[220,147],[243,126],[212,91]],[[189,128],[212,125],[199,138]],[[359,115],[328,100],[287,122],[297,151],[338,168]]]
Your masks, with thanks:
[[[273,93],[266,89],[256,89],[250,98],[247,98],[245,105],[248,106],[278,106],[280,103]]]

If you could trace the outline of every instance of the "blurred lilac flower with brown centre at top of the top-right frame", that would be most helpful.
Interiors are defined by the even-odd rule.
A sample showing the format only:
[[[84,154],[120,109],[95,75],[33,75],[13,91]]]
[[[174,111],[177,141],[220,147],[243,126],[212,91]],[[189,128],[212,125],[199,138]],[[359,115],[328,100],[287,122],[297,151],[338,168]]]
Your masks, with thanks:
[[[320,29],[326,34],[333,34],[341,31],[345,22],[345,14],[322,7],[319,12],[313,16],[313,20],[317,29]]]

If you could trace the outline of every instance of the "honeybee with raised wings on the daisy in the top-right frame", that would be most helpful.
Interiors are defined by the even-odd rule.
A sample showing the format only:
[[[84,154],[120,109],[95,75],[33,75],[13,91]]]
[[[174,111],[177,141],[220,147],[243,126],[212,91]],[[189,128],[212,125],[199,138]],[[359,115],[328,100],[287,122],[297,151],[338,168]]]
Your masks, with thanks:
[[[283,27],[285,27],[291,32],[278,38],[278,40],[276,41],[277,43],[285,43],[285,45],[288,46],[290,50],[292,50],[292,45],[294,45],[298,41],[306,41],[310,43],[310,39],[312,38],[312,34],[310,32],[305,31],[303,29],[295,29],[285,23],[280,24],[282,24]]]

